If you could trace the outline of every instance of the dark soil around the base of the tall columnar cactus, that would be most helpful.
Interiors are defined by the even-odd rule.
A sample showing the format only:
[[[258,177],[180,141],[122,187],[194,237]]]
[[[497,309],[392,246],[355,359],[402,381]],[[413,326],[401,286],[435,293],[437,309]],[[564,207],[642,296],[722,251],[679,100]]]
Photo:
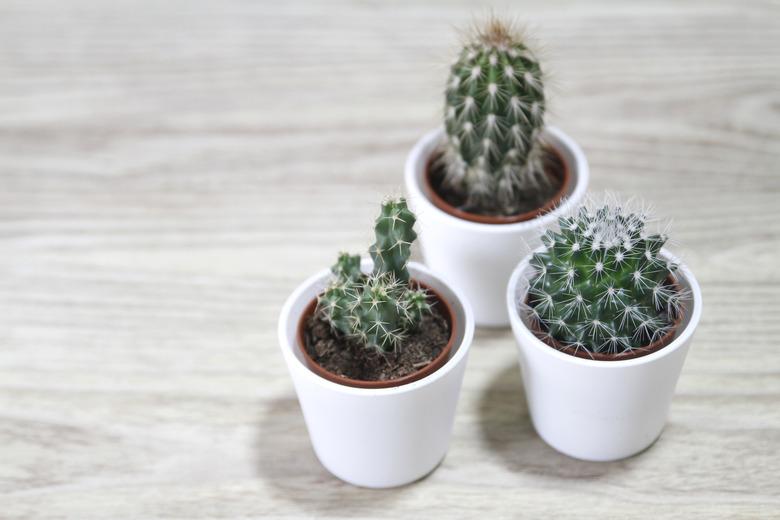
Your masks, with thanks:
[[[444,201],[450,206],[466,211],[468,213],[474,213],[477,215],[483,215],[486,217],[512,217],[514,215],[504,215],[493,210],[493,208],[474,207],[467,203],[464,193],[453,189],[451,186],[447,186],[444,183],[444,164],[440,160],[441,154],[434,155],[431,161],[428,163],[429,175],[431,180],[431,187],[436,193],[444,199]],[[538,192],[522,192],[518,193],[517,197],[517,211],[515,215],[527,213],[541,208],[547,202],[552,199],[558,190],[561,189],[563,184],[563,160],[561,157],[551,149],[545,150],[544,155],[544,170],[547,174],[547,178],[550,179],[548,186],[539,190]]]

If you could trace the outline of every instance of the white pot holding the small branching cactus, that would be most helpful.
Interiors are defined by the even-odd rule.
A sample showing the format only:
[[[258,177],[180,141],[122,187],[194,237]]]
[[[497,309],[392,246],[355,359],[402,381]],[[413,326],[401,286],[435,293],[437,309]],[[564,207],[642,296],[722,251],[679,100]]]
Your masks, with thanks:
[[[362,268],[371,269],[370,260]],[[425,267],[409,263],[412,278],[451,305],[456,340],[450,359],[432,374],[402,386],[353,388],[309,370],[296,344],[301,313],[328,283],[323,270],[290,295],[279,317],[279,342],[317,458],[338,478],[363,487],[413,482],[444,458],[450,442],[474,318],[460,293]]]

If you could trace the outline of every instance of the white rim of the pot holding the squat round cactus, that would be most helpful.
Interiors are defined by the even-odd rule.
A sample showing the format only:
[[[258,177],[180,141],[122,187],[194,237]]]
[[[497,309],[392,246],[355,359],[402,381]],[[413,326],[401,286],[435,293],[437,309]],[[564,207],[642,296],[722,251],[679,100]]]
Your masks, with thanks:
[[[688,343],[688,340],[690,339],[690,337],[693,335],[694,331],[698,327],[699,320],[701,319],[701,312],[702,312],[702,296],[701,296],[701,288],[699,287],[699,283],[697,282],[696,277],[693,275],[690,269],[688,269],[688,267],[684,263],[682,263],[677,256],[675,256],[674,254],[669,252],[666,248],[664,248],[661,249],[661,255],[665,259],[671,260],[678,264],[679,267],[677,268],[675,275],[677,277],[678,282],[680,282],[681,285],[683,286],[687,285],[688,288],[690,289],[691,302],[693,307],[692,309],[686,310],[686,314],[688,317],[687,323],[683,323],[684,327],[681,330],[678,329],[677,335],[671,342],[669,342],[668,345],[656,350],[655,352],[646,354],[644,356],[634,357],[630,359],[618,359],[618,360],[598,360],[598,359],[581,358],[581,357],[573,356],[571,354],[567,354],[565,352],[555,349],[554,347],[551,347],[550,345],[548,345],[547,343],[543,342],[542,340],[536,337],[533,331],[531,331],[531,329],[525,324],[523,319],[520,317],[520,313],[518,312],[517,309],[517,285],[518,283],[520,283],[522,277],[525,276],[525,271],[529,267],[529,261],[531,257],[535,253],[540,253],[545,249],[546,249],[545,246],[540,246],[536,248],[534,251],[532,251],[531,253],[529,253],[525,258],[523,258],[523,260],[512,271],[512,275],[509,277],[509,283],[507,284],[506,302],[509,311],[509,320],[512,323],[512,330],[515,333],[515,336],[517,336],[516,337],[517,344],[518,344],[517,348],[523,348],[523,346],[527,346],[527,348],[532,348],[545,355],[552,356],[554,358],[557,358],[560,361],[569,362],[574,365],[593,367],[593,368],[602,368],[606,370],[620,369],[620,368],[652,363],[653,361],[656,361],[660,358],[670,355],[672,352],[674,352],[678,348]],[[683,318],[683,322],[685,322],[685,318]],[[522,336],[522,338],[520,336]]]

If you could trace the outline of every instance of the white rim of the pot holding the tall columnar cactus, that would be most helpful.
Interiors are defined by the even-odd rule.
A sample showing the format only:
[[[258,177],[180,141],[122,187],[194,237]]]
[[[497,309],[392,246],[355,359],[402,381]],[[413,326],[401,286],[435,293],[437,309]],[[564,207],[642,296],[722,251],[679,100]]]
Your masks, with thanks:
[[[585,153],[571,137],[559,128],[546,126],[542,133],[542,139],[546,139],[549,146],[563,158],[564,167],[569,172],[569,183],[573,186],[571,192],[562,198],[562,202],[542,215],[520,222],[486,224],[458,218],[437,207],[424,187],[423,177],[428,161],[443,137],[444,127],[441,126],[427,132],[418,139],[406,158],[404,167],[406,189],[410,192],[410,198],[420,201],[421,207],[417,210],[418,218],[424,214],[431,214],[440,220],[447,221],[451,226],[460,227],[467,231],[494,234],[516,233],[552,223],[558,218],[558,215],[567,212],[573,206],[574,201],[580,200],[588,187],[590,175]]]

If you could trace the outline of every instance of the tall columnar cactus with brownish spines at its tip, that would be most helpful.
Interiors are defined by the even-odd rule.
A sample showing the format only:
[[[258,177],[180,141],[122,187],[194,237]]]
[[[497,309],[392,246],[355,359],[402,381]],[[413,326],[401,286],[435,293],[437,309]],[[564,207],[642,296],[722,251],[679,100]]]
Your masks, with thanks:
[[[544,110],[539,62],[511,27],[490,20],[461,50],[446,90],[446,181],[468,205],[511,215],[524,190],[549,185]]]

